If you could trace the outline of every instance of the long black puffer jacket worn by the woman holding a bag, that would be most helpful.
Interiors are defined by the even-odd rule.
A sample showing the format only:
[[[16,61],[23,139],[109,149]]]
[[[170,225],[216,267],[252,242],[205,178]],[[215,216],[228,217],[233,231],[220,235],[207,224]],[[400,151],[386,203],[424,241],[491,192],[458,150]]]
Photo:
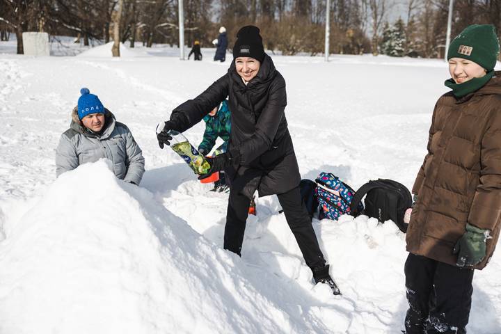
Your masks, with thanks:
[[[260,196],[268,196],[298,186],[301,177],[284,114],[285,80],[268,55],[247,86],[233,61],[227,74],[174,109],[170,120],[184,132],[226,97],[232,117],[228,151],[239,157],[239,165],[227,170],[232,191],[251,197],[258,189]]]

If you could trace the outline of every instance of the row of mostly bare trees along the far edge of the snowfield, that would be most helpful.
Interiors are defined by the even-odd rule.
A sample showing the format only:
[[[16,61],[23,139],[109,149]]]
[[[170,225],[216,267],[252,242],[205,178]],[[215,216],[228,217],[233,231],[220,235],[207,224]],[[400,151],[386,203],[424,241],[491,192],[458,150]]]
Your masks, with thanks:
[[[177,0],[120,0],[120,41],[177,45]],[[212,46],[219,26],[229,47],[239,27],[260,27],[265,47],[283,54],[324,52],[325,0],[184,0],[185,42]],[[17,37],[23,53],[24,31],[71,35],[89,45],[109,42],[119,0],[0,0],[0,39]],[[449,0],[331,0],[331,53],[435,58],[445,51]],[[388,22],[399,10],[401,17]],[[469,24],[501,29],[500,0],[455,0],[452,38]]]

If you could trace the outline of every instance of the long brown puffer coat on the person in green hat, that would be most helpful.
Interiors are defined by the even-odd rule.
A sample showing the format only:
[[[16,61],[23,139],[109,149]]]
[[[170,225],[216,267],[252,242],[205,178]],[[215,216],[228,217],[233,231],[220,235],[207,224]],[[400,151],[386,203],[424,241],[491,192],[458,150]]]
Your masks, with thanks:
[[[501,72],[475,93],[438,99],[428,154],[413,186],[407,250],[455,265],[466,223],[491,230],[483,269],[498,242],[501,218]]]

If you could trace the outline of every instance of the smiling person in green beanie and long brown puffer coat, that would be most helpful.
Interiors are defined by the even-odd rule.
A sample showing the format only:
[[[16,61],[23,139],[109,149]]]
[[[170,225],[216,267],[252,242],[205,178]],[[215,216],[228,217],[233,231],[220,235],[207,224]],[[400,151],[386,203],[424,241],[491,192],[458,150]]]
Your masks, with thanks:
[[[468,26],[447,52],[452,88],[436,103],[413,186],[405,264],[407,334],[466,333],[473,269],[501,228],[501,72],[491,25]]]

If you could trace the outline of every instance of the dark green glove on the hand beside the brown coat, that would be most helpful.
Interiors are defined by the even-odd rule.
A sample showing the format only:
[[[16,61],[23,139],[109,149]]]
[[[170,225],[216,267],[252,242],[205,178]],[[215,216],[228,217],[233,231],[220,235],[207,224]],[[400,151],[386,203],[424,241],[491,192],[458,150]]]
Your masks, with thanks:
[[[457,267],[475,266],[484,260],[489,232],[489,230],[466,223],[466,232],[459,238],[452,250],[453,254],[458,255]]]

